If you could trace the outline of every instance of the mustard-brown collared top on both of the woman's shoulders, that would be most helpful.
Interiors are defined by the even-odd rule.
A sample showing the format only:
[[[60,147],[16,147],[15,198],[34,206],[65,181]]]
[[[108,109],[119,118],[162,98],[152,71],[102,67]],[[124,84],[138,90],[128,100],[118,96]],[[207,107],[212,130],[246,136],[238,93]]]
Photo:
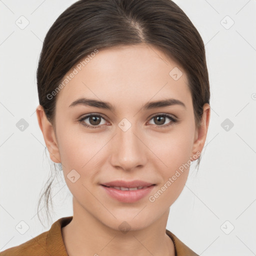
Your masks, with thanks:
[[[48,231],[34,238],[0,252],[0,256],[68,256],[63,242],[61,227],[67,225],[73,216],[56,220]],[[166,229],[175,247],[175,256],[198,256],[181,242],[173,233]]]

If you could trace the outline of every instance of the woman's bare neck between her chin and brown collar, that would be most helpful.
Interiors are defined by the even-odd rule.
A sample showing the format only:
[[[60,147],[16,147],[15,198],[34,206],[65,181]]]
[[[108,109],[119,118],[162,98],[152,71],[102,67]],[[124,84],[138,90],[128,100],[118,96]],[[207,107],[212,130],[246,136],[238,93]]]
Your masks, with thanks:
[[[121,231],[100,222],[73,200],[73,218],[62,227],[63,241],[69,256],[174,256],[173,242],[165,233],[168,213],[144,228]]]

